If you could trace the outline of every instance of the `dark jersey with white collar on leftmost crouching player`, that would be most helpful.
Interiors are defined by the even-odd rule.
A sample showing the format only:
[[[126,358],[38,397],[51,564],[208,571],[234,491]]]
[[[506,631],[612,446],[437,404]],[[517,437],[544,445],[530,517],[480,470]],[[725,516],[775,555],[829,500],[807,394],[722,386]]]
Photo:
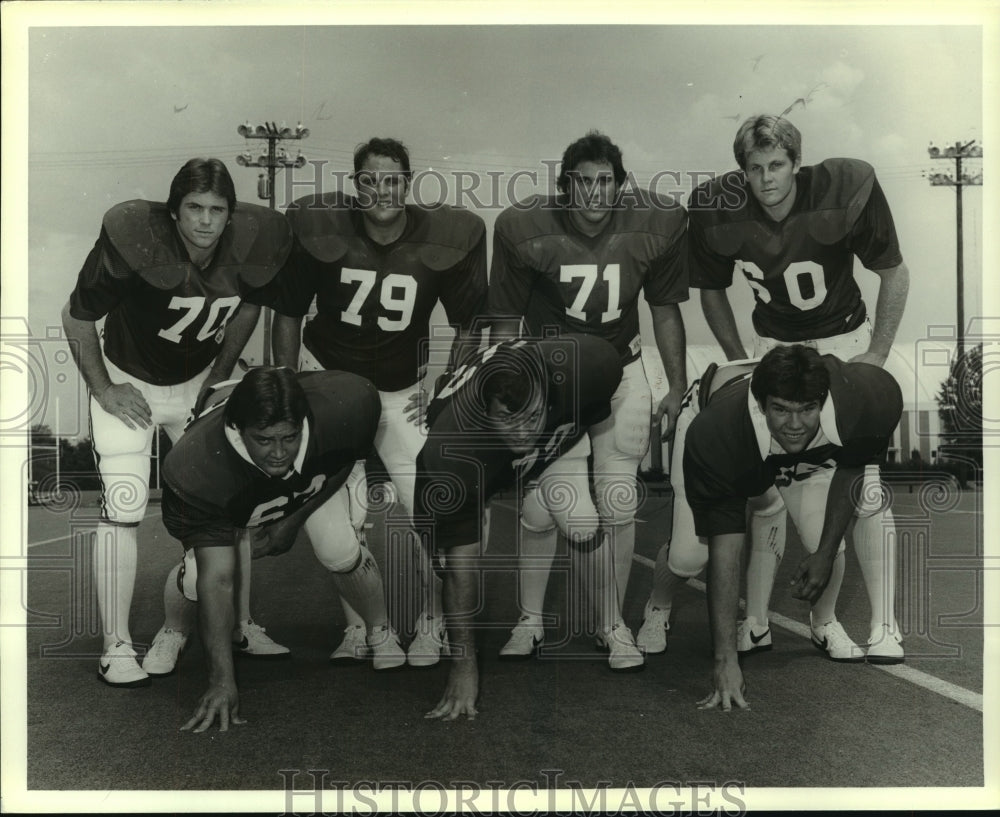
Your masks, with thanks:
[[[298,470],[271,477],[244,459],[226,437],[223,404],[195,420],[164,459],[163,522],[185,548],[232,544],[238,528],[284,519],[368,455],[381,411],[375,387],[346,372],[298,378],[310,410]]]

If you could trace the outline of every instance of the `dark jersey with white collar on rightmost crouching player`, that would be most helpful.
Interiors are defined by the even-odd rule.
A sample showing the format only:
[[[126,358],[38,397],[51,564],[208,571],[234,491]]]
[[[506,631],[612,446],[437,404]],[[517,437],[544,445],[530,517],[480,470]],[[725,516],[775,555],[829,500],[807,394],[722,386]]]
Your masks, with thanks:
[[[830,392],[816,440],[796,454],[771,453],[771,435],[750,393],[750,378],[726,384],[688,429],[684,486],[699,536],[742,533],[746,502],[838,465],[877,463],[903,411],[895,379],[877,366],[824,355]]]

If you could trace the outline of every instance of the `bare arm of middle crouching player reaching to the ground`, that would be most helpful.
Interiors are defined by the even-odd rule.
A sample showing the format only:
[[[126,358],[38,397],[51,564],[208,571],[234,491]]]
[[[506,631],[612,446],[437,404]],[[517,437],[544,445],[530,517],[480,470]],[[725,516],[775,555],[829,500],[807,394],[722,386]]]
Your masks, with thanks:
[[[475,719],[479,696],[479,669],[476,666],[476,640],[473,617],[479,604],[479,543],[460,545],[448,550],[443,602],[448,617],[448,639],[454,658],[444,695],[425,718],[453,721],[465,715]]]

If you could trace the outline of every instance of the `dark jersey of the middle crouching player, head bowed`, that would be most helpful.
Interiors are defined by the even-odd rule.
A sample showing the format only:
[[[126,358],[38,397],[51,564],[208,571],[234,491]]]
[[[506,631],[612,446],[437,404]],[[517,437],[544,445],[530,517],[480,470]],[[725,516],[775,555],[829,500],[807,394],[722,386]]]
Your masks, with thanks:
[[[516,345],[523,340],[505,341]],[[545,428],[534,450],[515,454],[487,425],[478,378],[497,347],[459,367],[428,408],[430,430],[417,457],[417,529],[432,550],[478,542],[483,509],[497,491],[537,477],[587,429],[611,414],[622,366],[607,341],[564,335],[538,341],[548,379]]]

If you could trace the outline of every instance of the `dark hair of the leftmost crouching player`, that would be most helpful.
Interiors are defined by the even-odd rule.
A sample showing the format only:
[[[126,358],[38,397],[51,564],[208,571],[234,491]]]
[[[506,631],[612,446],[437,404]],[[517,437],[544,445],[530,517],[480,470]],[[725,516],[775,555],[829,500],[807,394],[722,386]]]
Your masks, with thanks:
[[[309,401],[291,369],[260,366],[247,372],[226,402],[226,425],[237,431],[265,428],[276,423],[302,425],[309,415]]]

